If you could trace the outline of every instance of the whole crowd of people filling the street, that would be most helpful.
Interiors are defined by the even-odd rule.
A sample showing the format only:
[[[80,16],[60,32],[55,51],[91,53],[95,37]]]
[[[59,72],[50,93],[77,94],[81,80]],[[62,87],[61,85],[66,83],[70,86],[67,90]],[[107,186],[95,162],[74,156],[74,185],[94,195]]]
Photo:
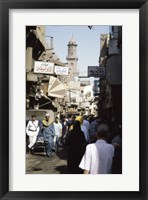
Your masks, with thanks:
[[[33,115],[26,133],[31,152],[37,138],[43,138],[47,157],[64,148],[68,174],[122,173],[122,125],[115,117],[106,121],[93,115],[72,115],[51,121],[46,114],[40,123]]]

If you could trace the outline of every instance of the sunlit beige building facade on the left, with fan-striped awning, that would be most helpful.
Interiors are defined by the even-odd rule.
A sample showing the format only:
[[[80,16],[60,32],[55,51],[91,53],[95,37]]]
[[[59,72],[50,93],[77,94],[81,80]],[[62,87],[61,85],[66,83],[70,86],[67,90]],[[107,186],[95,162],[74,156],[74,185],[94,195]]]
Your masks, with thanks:
[[[61,62],[51,44],[46,43],[45,26],[26,26],[26,109],[48,109],[54,112],[62,110],[61,98],[65,96],[64,85],[60,77],[52,72],[35,72],[35,65],[65,66]],[[49,91],[49,85],[52,90]],[[59,90],[54,93],[54,86]]]

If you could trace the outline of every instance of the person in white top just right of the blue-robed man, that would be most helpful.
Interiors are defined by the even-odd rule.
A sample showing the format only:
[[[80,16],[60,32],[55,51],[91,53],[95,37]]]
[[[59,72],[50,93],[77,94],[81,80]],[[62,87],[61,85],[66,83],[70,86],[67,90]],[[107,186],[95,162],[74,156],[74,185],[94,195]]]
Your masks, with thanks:
[[[58,151],[59,145],[61,144],[61,137],[62,137],[62,124],[59,121],[59,118],[55,118],[54,129],[55,129],[55,136],[54,136],[54,145],[56,150]]]

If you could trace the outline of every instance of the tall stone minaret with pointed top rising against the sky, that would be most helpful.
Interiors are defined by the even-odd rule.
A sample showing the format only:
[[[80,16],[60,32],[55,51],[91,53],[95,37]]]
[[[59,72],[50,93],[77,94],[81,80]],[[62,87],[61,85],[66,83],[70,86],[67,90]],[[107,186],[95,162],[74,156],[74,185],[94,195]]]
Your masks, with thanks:
[[[66,57],[68,66],[69,66],[69,72],[70,74],[75,74],[77,72],[77,43],[72,35],[71,40],[68,43],[68,56]]]

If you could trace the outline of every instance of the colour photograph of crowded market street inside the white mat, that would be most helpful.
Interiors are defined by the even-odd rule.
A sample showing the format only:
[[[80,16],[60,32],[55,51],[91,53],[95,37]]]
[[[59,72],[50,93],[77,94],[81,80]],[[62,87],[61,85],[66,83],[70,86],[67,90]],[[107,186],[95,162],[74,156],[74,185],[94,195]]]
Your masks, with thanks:
[[[27,26],[25,123],[26,174],[121,174],[122,26]]]

